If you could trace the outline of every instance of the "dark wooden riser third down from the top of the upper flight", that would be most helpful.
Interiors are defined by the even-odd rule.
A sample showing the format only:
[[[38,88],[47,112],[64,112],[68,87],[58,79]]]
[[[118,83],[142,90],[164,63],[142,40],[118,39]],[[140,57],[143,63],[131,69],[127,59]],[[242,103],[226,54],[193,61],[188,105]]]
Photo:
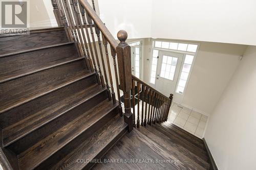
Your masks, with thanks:
[[[86,69],[85,61],[79,60],[0,84],[0,95],[3,96],[0,98],[2,104],[0,110],[72,81],[77,72],[84,69]]]

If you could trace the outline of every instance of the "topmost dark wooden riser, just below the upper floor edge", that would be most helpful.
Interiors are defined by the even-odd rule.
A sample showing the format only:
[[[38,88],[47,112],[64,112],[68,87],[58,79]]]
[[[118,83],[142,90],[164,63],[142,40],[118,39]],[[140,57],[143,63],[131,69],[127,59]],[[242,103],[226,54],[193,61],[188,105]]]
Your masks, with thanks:
[[[69,40],[63,28],[48,31],[31,31],[30,35],[1,37],[0,55],[65,42],[69,42]]]

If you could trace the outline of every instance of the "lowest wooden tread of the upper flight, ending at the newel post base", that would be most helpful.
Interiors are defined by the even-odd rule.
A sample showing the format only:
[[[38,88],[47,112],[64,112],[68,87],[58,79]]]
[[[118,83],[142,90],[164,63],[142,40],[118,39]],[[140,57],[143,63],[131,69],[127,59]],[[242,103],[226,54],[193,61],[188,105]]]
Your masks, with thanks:
[[[88,163],[79,163],[77,159],[93,160],[99,158],[97,155],[122,131],[126,131],[126,128],[127,124],[124,123],[123,118],[116,115],[111,122],[90,136],[86,141],[83,141],[77,146],[76,150],[50,169],[84,169]]]

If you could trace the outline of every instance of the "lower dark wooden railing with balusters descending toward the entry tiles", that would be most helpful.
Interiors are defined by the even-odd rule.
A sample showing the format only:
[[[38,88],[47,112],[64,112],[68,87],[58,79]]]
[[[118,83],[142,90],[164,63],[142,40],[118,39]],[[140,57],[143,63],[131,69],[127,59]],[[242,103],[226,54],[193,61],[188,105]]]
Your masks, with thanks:
[[[140,125],[146,126],[147,124],[152,125],[152,123],[155,124],[156,122],[165,122],[167,120],[172,101],[173,94],[170,94],[169,98],[167,98],[164,94],[138,79],[136,76],[132,76],[134,127],[137,125],[137,128],[139,128]],[[135,115],[136,105],[137,115]]]

